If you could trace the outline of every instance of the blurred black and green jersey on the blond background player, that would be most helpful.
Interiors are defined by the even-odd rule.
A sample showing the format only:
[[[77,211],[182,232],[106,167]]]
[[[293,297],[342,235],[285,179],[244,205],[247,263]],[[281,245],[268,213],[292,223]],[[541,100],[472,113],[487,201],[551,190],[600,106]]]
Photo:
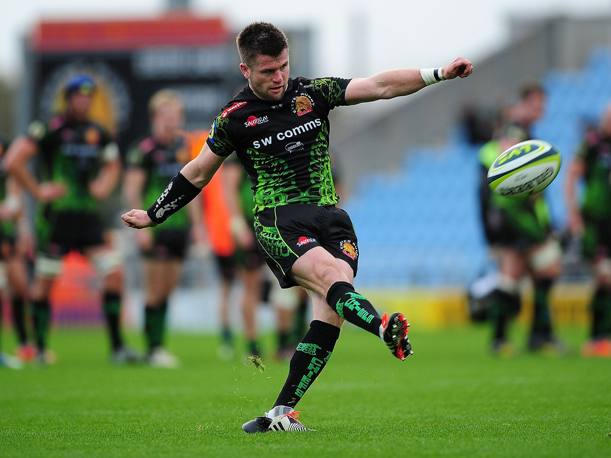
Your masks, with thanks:
[[[163,194],[167,182],[191,159],[188,140],[177,134],[169,145],[162,145],[153,137],[147,137],[131,148],[125,162],[128,168],[142,169],[147,180],[142,190],[143,202],[153,202]],[[163,230],[188,230],[191,225],[188,209],[181,208],[163,224]],[[161,225],[153,231],[162,230]]]

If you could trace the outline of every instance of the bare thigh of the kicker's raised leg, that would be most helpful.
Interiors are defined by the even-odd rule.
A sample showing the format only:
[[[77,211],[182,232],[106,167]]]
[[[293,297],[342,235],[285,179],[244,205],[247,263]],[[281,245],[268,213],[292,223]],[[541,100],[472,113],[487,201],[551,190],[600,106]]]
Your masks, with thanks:
[[[353,281],[352,269],[346,275],[345,261],[338,260],[323,247],[314,247],[299,256],[289,275],[298,285],[326,296],[333,283]]]

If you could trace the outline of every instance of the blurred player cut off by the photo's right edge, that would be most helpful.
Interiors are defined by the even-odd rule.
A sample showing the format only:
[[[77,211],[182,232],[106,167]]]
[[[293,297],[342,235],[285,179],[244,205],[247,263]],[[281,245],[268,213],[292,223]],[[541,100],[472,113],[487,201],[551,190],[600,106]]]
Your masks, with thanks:
[[[581,210],[575,190],[585,181]],[[585,356],[611,357],[611,106],[598,130],[586,134],[566,179],[569,230],[582,239],[584,255],[593,263],[596,291],[591,300],[590,341]]]

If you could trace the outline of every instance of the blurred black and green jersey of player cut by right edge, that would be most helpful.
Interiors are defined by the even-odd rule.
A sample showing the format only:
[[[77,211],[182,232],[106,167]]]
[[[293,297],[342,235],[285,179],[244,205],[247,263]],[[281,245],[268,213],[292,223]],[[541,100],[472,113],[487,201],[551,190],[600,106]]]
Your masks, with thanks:
[[[591,131],[585,136],[577,158],[585,164],[584,216],[611,218],[611,139]]]

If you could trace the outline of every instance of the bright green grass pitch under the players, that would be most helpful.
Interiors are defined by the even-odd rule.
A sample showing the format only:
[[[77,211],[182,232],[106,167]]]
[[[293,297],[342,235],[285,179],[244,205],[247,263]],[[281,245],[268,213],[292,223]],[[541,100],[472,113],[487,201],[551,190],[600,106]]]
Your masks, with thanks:
[[[415,355],[401,363],[344,330],[298,405],[318,431],[246,435],[286,363],[264,357],[259,373],[219,361],[212,336],[171,335],[180,369],[117,368],[100,330],[58,331],[56,366],[0,371],[0,456],[611,456],[611,361],[578,356],[584,332],[565,335],[567,357],[511,360],[489,356],[477,327],[410,336]]]

